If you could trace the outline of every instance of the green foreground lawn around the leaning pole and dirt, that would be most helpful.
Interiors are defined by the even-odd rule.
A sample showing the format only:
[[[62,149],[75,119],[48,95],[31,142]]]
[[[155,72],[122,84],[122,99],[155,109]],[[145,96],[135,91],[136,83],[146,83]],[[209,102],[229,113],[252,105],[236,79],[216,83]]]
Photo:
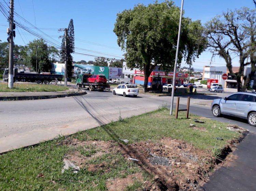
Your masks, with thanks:
[[[42,86],[42,85],[41,85]],[[109,141],[128,139],[130,143],[139,141],[157,141],[163,137],[187,141],[199,149],[212,151],[218,157],[220,150],[229,140],[239,138],[241,134],[226,129],[227,124],[215,120],[200,118],[190,114],[191,120],[185,118],[185,112],[179,113],[179,119],[169,115],[167,108],[160,108],[140,116],[122,119],[116,122],[89,129],[71,135],[71,138],[80,141]],[[205,123],[195,123],[200,119]],[[198,131],[189,127],[196,124],[207,131]],[[222,137],[223,140],[216,140]],[[69,146],[57,144],[65,137],[42,142],[36,146],[17,149],[0,155],[0,190],[107,190],[106,181],[114,178],[124,178],[129,174],[142,172],[133,161],[125,159],[119,152],[105,153],[97,158],[90,159],[87,164],[99,165],[105,163],[107,171],[99,168],[91,172],[87,167],[74,174],[71,170],[61,174],[63,157],[70,151],[80,152],[82,156],[91,156],[97,152],[94,146]],[[123,142],[122,142],[123,143]],[[113,162],[114,161],[114,162]],[[42,173],[43,177],[38,177]],[[147,179],[144,175],[144,179]],[[126,190],[142,188],[142,183],[134,181]]]

